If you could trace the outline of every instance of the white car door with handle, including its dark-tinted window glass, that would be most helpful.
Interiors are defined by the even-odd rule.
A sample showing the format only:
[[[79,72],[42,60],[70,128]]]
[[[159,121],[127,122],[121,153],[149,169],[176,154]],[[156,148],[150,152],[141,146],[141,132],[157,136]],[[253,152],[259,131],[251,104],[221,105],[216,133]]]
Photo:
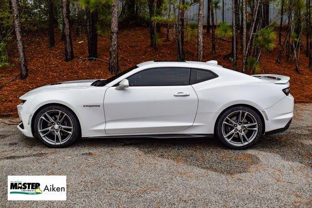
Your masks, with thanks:
[[[153,68],[128,77],[129,87],[107,89],[105,132],[180,132],[193,125],[198,98],[189,68]]]

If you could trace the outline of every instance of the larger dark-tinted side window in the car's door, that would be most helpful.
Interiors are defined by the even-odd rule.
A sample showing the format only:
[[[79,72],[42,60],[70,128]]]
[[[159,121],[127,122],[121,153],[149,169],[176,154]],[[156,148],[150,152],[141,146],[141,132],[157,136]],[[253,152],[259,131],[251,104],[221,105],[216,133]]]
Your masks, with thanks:
[[[188,85],[191,69],[155,68],[128,77],[129,86],[174,86]]]

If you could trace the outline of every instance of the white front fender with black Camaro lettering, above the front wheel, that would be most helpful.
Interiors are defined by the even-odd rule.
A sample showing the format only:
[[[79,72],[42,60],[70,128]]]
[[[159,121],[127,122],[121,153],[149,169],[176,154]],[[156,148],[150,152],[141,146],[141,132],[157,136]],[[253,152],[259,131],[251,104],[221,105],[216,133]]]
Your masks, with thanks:
[[[105,134],[103,100],[106,89],[98,87],[39,92],[29,104],[27,113],[35,113],[47,104],[61,104],[70,108],[78,117],[82,137],[101,136]]]

